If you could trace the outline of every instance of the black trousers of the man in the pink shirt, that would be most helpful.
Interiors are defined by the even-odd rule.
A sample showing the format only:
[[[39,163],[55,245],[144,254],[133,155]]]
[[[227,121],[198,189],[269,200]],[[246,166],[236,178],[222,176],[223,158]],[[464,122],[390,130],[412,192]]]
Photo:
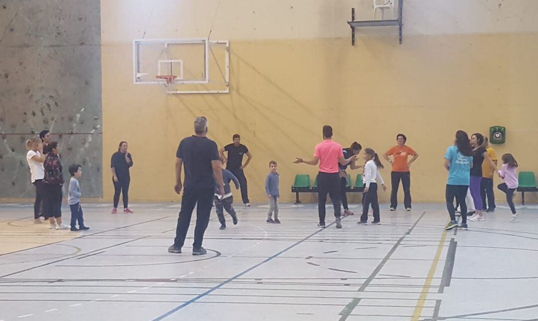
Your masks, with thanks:
[[[317,213],[320,223],[325,222],[325,204],[327,204],[327,193],[332,199],[332,207],[335,210],[335,217],[340,218],[340,175],[338,173],[317,174]]]

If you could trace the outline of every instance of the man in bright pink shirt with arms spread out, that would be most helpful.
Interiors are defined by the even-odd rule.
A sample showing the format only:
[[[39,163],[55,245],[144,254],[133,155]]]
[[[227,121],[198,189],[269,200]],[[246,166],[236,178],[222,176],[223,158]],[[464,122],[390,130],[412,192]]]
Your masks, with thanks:
[[[356,156],[353,155],[348,159],[344,159],[342,153],[342,145],[331,140],[332,127],[329,125],[323,126],[323,141],[314,148],[314,159],[303,160],[297,158],[294,163],[305,163],[316,166],[320,164],[320,172],[317,174],[317,211],[320,216],[319,227],[325,227],[325,203],[327,203],[327,193],[332,199],[332,206],[335,210],[336,228],[341,229],[340,223],[340,176],[338,174],[338,163],[348,165],[354,161]]]

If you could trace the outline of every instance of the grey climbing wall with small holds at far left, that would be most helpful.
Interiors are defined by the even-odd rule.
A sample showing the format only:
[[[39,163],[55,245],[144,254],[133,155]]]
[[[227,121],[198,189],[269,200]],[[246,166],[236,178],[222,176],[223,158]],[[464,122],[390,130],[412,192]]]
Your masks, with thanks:
[[[100,1],[0,0],[0,198],[34,196],[24,142],[44,129],[102,197],[100,33]]]

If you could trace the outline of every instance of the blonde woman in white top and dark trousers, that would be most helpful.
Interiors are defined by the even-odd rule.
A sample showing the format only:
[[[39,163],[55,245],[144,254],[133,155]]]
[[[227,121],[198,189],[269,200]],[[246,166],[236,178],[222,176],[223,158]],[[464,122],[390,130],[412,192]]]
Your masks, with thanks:
[[[43,144],[39,137],[34,137],[26,141],[26,162],[30,167],[30,181],[36,187],[36,201],[34,202],[34,223],[39,224],[40,216],[43,216],[41,212],[41,201],[43,199],[43,179],[45,178],[45,170],[43,169],[43,162],[45,162],[45,156],[43,154]]]

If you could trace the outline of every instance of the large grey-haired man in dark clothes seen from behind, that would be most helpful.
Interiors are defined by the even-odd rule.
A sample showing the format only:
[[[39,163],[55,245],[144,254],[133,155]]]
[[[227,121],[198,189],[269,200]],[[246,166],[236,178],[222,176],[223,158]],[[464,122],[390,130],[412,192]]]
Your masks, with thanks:
[[[207,251],[202,247],[203,234],[209,224],[209,214],[215,195],[215,180],[219,186],[219,194],[224,195],[222,166],[218,156],[217,144],[208,139],[208,122],[206,117],[194,120],[194,135],[184,138],[178,147],[175,161],[175,192],[180,194],[181,166],[185,167],[185,190],[181,198],[181,211],[178,226],[175,229],[174,244],[168,252],[181,253],[185,237],[189,230],[190,217],[196,209],[196,227],[194,229],[193,255],[203,255]]]

